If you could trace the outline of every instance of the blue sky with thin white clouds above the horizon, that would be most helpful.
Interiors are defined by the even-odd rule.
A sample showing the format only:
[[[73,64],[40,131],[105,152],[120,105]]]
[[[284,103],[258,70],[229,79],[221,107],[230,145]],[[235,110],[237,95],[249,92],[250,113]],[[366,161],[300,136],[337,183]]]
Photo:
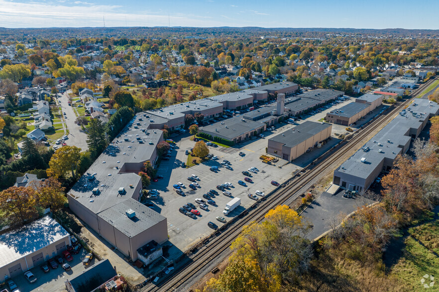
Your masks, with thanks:
[[[439,29],[438,0],[0,0],[0,27]],[[169,17],[168,17],[169,15]]]

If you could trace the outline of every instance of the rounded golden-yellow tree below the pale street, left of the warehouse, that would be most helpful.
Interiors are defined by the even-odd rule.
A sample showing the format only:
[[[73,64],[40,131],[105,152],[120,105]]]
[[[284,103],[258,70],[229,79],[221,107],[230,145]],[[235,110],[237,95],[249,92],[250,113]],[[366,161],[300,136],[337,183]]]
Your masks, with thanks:
[[[66,177],[71,171],[72,177],[75,177],[76,170],[81,157],[81,148],[76,146],[63,146],[55,151],[49,161],[47,175],[59,178]]]

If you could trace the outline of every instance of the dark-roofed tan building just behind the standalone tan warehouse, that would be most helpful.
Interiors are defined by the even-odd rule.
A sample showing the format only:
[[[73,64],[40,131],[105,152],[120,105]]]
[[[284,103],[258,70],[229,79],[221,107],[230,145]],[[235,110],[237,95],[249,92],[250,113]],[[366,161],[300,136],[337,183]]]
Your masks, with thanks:
[[[372,105],[367,103],[351,102],[338,109],[331,110],[326,114],[329,123],[348,126],[372,110]]]

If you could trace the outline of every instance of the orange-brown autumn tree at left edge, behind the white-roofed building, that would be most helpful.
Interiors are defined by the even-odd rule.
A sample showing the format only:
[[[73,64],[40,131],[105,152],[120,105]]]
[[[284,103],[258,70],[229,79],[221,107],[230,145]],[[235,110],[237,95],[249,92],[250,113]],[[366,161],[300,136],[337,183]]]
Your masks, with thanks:
[[[36,191],[31,187],[10,187],[0,193],[0,211],[11,226],[36,218]]]

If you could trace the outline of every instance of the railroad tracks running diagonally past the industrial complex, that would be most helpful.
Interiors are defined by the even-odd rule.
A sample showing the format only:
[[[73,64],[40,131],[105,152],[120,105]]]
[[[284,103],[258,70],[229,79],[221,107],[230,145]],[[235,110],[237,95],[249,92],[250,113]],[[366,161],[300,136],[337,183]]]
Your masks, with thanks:
[[[385,115],[378,116],[367,126],[358,130],[353,134],[353,137],[350,140],[339,146],[335,151],[332,151],[332,153],[324,153],[324,158],[312,165],[312,167],[309,168],[305,173],[294,177],[287,183],[283,183],[277,190],[272,192],[271,195],[262,198],[249,210],[241,213],[238,216],[241,219],[228,226],[222,232],[217,232],[216,238],[208,239],[208,242],[205,244],[203,249],[199,250],[185,265],[178,268],[172,275],[162,279],[162,281],[160,281],[156,286],[151,284],[142,289],[142,291],[181,291],[179,288],[187,280],[200,271],[203,271],[209,262],[221,256],[221,254],[229,248],[230,244],[239,236],[239,233],[244,225],[250,223],[251,221],[262,220],[269,210],[283,204],[293,195],[298,196],[298,192],[308,184],[311,184],[320,173],[328,170],[329,168],[333,168],[333,163],[341,158],[347,149],[356,147],[359,148],[359,146],[362,146],[364,144],[363,139],[370,135],[378,125],[385,120],[392,118],[404,106],[408,105],[414,96],[422,92],[425,87],[434,82],[435,79],[429,80],[418,89],[414,90],[411,94],[412,98],[398,103],[397,105],[393,106],[392,109],[388,110]]]

